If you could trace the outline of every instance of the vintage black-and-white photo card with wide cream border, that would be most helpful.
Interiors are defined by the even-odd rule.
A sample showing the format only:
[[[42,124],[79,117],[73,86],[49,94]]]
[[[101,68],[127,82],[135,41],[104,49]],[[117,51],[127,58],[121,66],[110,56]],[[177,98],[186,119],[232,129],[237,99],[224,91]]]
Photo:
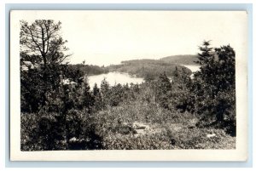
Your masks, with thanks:
[[[246,161],[247,12],[12,10],[11,161]]]

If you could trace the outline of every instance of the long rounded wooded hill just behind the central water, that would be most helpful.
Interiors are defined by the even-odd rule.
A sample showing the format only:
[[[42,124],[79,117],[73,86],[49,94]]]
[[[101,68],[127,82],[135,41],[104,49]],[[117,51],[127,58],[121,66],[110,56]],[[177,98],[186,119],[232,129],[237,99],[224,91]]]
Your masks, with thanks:
[[[192,73],[188,68],[166,62],[165,60],[126,60],[120,65],[108,66],[108,71],[126,72],[136,77],[158,77],[161,73],[166,72],[166,75],[172,77],[173,71],[177,68],[178,71],[185,71],[189,75]]]

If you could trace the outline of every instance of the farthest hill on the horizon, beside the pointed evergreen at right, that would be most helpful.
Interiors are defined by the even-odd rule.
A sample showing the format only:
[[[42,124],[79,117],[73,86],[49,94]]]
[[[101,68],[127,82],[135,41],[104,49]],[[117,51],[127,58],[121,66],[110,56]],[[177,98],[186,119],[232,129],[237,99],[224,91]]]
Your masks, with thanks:
[[[183,54],[183,55],[173,55],[160,58],[168,63],[178,64],[178,65],[196,65],[195,61],[198,60],[196,55],[193,54]]]

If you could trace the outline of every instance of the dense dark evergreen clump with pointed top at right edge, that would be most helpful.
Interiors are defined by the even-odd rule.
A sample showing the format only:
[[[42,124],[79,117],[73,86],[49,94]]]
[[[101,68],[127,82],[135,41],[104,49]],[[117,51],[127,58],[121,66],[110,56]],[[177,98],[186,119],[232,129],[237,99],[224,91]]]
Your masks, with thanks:
[[[207,123],[227,126],[236,132],[236,53],[230,45],[209,48],[204,42],[198,54],[201,71],[195,73],[195,110]]]

